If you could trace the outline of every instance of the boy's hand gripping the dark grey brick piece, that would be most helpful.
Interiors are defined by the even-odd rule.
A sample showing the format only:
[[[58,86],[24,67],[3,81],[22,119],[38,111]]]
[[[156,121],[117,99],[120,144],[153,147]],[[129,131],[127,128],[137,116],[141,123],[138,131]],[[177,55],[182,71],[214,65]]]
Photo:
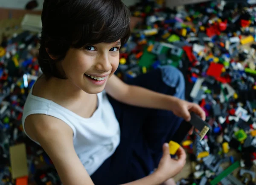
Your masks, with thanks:
[[[171,110],[176,116],[185,119],[185,121],[190,121],[191,119],[189,112],[196,113],[198,116],[201,117],[201,119],[205,121],[204,110],[198,104],[195,103],[191,103],[177,98],[175,99],[174,102],[172,102]]]

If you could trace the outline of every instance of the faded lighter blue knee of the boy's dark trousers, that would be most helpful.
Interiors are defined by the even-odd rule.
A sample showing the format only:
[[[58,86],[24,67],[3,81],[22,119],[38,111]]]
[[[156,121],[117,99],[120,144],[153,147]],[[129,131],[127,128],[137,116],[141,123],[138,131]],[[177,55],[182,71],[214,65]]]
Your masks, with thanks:
[[[179,69],[173,66],[160,66],[163,82],[176,90],[177,98],[185,98],[185,79]]]

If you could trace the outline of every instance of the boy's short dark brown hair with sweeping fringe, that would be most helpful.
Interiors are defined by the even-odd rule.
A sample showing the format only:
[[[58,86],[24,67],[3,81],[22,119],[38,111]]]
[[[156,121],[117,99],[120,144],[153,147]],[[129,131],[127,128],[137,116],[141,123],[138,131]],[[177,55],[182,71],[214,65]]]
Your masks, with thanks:
[[[70,48],[111,43],[130,36],[130,11],[122,0],[44,0],[38,62],[48,78]],[[46,50],[47,48],[47,50]],[[49,55],[56,58],[53,60]]]

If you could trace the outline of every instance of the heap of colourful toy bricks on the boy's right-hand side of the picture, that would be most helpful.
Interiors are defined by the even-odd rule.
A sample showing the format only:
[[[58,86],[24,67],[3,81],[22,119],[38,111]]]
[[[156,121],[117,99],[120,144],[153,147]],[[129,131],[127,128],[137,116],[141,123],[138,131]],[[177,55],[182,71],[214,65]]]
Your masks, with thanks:
[[[253,185],[256,6],[209,2],[163,9],[148,3],[131,10],[143,21],[122,49],[117,75],[125,80],[161,65],[175,66],[186,79],[186,99],[207,116],[207,135],[201,140],[193,134],[182,143],[194,168],[178,183]],[[223,169],[224,164],[230,167]]]

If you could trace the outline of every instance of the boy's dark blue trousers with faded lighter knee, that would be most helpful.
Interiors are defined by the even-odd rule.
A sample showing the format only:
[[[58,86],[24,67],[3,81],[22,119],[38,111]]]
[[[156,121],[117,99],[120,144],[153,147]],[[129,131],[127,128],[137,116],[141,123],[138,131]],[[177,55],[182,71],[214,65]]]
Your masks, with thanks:
[[[172,66],[161,66],[127,83],[184,99],[183,75]],[[158,166],[163,143],[172,140],[182,121],[171,111],[134,107],[108,98],[119,121],[121,140],[115,153],[91,175],[95,185],[118,185],[147,176]]]

